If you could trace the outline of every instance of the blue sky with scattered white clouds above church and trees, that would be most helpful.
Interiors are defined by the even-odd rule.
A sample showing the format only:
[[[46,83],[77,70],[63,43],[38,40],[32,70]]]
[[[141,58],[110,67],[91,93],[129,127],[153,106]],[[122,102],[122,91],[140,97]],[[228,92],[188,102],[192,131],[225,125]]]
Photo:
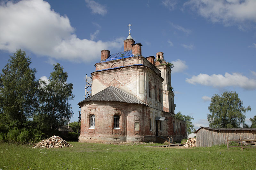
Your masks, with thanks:
[[[100,62],[100,51],[123,51],[131,35],[144,57],[164,52],[172,62],[175,113],[191,115],[195,128],[208,126],[214,94],[236,91],[256,115],[256,1],[43,1],[0,3],[0,68],[21,48],[31,57],[36,78],[47,79],[60,63],[73,83],[70,101],[84,100],[85,75]]]

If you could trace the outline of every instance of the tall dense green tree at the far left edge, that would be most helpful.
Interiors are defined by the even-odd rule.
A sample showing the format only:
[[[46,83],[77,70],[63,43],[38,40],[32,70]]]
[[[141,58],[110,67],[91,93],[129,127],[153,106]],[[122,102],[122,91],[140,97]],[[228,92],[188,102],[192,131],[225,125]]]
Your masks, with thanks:
[[[25,51],[17,50],[10,56],[9,63],[0,75],[1,123],[22,126],[31,118],[37,104],[39,82],[35,78],[36,69],[29,67],[31,61]]]

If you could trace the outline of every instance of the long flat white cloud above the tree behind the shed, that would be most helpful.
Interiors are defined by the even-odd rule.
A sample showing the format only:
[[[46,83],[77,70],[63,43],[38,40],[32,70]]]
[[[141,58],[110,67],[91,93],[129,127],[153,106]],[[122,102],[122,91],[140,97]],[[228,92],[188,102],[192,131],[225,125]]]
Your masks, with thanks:
[[[186,82],[196,85],[207,85],[213,86],[216,88],[223,88],[227,86],[238,86],[245,90],[255,90],[256,89],[256,80],[249,79],[242,74],[239,73],[225,73],[225,75],[221,74],[213,74],[209,76],[208,74],[200,73],[197,76],[192,76],[191,78],[186,78]]]

